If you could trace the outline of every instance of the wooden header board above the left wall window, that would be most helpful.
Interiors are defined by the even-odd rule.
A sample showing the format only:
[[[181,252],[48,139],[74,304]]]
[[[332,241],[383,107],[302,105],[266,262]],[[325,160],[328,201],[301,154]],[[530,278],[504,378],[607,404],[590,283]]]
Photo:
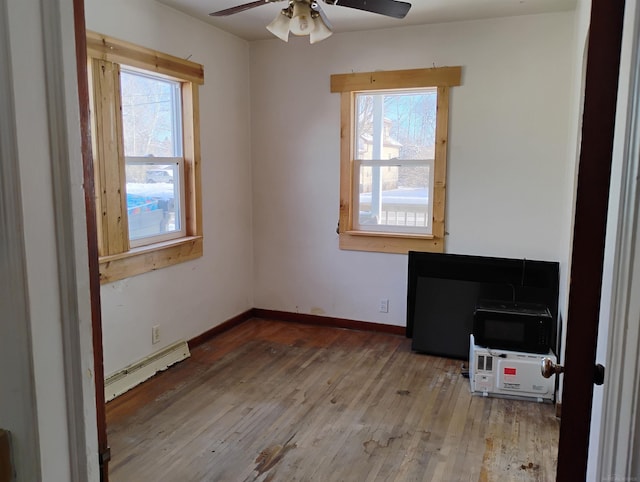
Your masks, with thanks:
[[[199,85],[204,83],[204,67],[200,64],[96,32],[87,31],[87,54],[95,59],[138,67],[176,80],[188,80]]]

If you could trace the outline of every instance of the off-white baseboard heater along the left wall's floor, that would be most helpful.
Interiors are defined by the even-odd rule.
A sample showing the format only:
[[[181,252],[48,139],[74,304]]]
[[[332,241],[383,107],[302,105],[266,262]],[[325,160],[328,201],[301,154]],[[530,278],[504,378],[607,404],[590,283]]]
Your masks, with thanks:
[[[166,370],[174,363],[189,358],[189,345],[186,341],[179,341],[160,350],[128,367],[109,375],[104,381],[104,397],[108,402],[133,387],[148,380],[156,373]]]

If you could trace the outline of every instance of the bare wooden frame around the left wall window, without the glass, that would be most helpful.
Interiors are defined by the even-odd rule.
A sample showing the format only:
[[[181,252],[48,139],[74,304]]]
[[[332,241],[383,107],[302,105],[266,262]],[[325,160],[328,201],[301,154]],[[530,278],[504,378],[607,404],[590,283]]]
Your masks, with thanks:
[[[202,65],[87,31],[100,282],[108,283],[198,258],[203,252],[198,86]],[[186,235],[131,248],[126,217],[120,65],[179,81],[182,91]]]

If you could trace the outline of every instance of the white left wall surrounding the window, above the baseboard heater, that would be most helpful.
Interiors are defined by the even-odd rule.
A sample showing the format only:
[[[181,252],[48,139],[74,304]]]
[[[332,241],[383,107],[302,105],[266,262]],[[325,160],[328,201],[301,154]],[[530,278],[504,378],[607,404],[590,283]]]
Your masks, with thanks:
[[[152,0],[85,0],[87,29],[204,65],[204,256],[102,287],[107,375],[254,306],[249,46]],[[151,344],[160,325],[161,343]]]

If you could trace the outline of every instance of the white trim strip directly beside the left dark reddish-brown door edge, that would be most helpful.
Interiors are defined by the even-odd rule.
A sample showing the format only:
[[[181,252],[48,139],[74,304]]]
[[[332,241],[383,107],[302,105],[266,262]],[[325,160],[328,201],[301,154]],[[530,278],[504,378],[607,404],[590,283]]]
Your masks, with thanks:
[[[95,407],[95,398],[91,397],[92,392],[88,389],[93,385],[93,379],[87,380],[83,376],[85,368],[93,368],[93,360],[87,366],[86,358],[83,358],[83,343],[90,343],[86,336],[83,337],[87,330],[86,317],[88,315],[90,318],[90,311],[87,312],[86,308],[81,310],[80,307],[89,293],[83,291],[78,283],[78,274],[82,269],[87,270],[86,263],[79,265],[80,256],[86,255],[86,246],[78,245],[78,240],[81,243],[86,240],[86,222],[74,220],[74,216],[79,216],[74,206],[84,204],[77,198],[74,204],[73,196],[77,196],[77,187],[73,182],[71,166],[72,162],[81,163],[80,146],[74,142],[74,138],[80,137],[79,122],[73,123],[79,116],[75,48],[70,52],[65,51],[69,43],[75,47],[73,9],[69,8],[72,6],[70,0],[41,0],[40,4],[60,286],[69,466],[71,481],[83,482],[92,479],[98,454],[97,451],[93,453],[93,448],[97,448],[95,441],[88,439],[88,434],[93,435],[96,429],[95,416],[90,418],[95,412],[87,410],[91,404]],[[71,42],[69,35],[73,39]],[[75,98],[71,99],[74,94]],[[70,131],[69,122],[72,122],[72,128],[78,132]],[[79,232],[81,230],[82,233]],[[89,427],[88,424],[92,426]]]

